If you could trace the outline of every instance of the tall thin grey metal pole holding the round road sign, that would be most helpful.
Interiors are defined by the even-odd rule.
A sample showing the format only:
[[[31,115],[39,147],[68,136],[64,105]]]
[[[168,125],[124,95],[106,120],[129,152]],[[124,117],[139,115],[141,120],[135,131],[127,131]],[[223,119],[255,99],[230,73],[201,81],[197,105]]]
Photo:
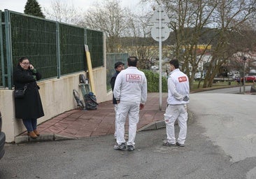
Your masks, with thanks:
[[[162,110],[162,8],[159,8],[159,110]]]

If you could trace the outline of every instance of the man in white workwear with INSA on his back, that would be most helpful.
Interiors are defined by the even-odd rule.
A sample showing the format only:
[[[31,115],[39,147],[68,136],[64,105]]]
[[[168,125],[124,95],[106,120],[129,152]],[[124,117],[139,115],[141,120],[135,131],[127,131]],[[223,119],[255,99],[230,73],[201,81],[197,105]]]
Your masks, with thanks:
[[[116,80],[113,94],[118,102],[117,144],[115,150],[135,149],[135,136],[139,120],[139,110],[144,108],[147,99],[147,79],[137,66],[138,58],[127,59],[128,68],[122,70]],[[125,120],[129,117],[129,138],[125,145]]]

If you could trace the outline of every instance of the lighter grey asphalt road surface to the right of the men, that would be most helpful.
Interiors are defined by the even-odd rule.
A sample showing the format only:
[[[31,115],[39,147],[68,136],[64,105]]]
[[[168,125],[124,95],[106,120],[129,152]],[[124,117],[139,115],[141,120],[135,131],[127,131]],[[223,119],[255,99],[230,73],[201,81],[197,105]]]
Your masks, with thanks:
[[[246,94],[192,94],[190,110],[204,127],[204,136],[230,157],[232,164],[253,162],[246,174],[256,178],[256,96]]]

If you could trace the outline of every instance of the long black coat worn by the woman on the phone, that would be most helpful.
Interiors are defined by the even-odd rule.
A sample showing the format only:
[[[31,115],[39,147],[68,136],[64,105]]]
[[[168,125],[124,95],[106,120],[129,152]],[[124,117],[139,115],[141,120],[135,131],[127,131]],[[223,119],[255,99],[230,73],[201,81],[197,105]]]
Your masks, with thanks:
[[[36,78],[36,79],[35,79]],[[13,83],[15,90],[22,90],[27,84],[25,96],[15,99],[15,117],[19,119],[37,119],[44,115],[43,106],[38,92],[36,80],[42,78],[40,73],[24,70],[20,65],[13,71]]]

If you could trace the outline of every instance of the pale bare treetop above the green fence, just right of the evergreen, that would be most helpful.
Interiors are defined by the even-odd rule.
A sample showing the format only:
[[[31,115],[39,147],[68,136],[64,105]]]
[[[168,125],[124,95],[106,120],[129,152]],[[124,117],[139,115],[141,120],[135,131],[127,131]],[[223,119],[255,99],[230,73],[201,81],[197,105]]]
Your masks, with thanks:
[[[68,24],[78,24],[81,20],[82,12],[68,3],[59,0],[51,2],[50,9],[44,9],[45,15],[50,20],[65,22]]]

